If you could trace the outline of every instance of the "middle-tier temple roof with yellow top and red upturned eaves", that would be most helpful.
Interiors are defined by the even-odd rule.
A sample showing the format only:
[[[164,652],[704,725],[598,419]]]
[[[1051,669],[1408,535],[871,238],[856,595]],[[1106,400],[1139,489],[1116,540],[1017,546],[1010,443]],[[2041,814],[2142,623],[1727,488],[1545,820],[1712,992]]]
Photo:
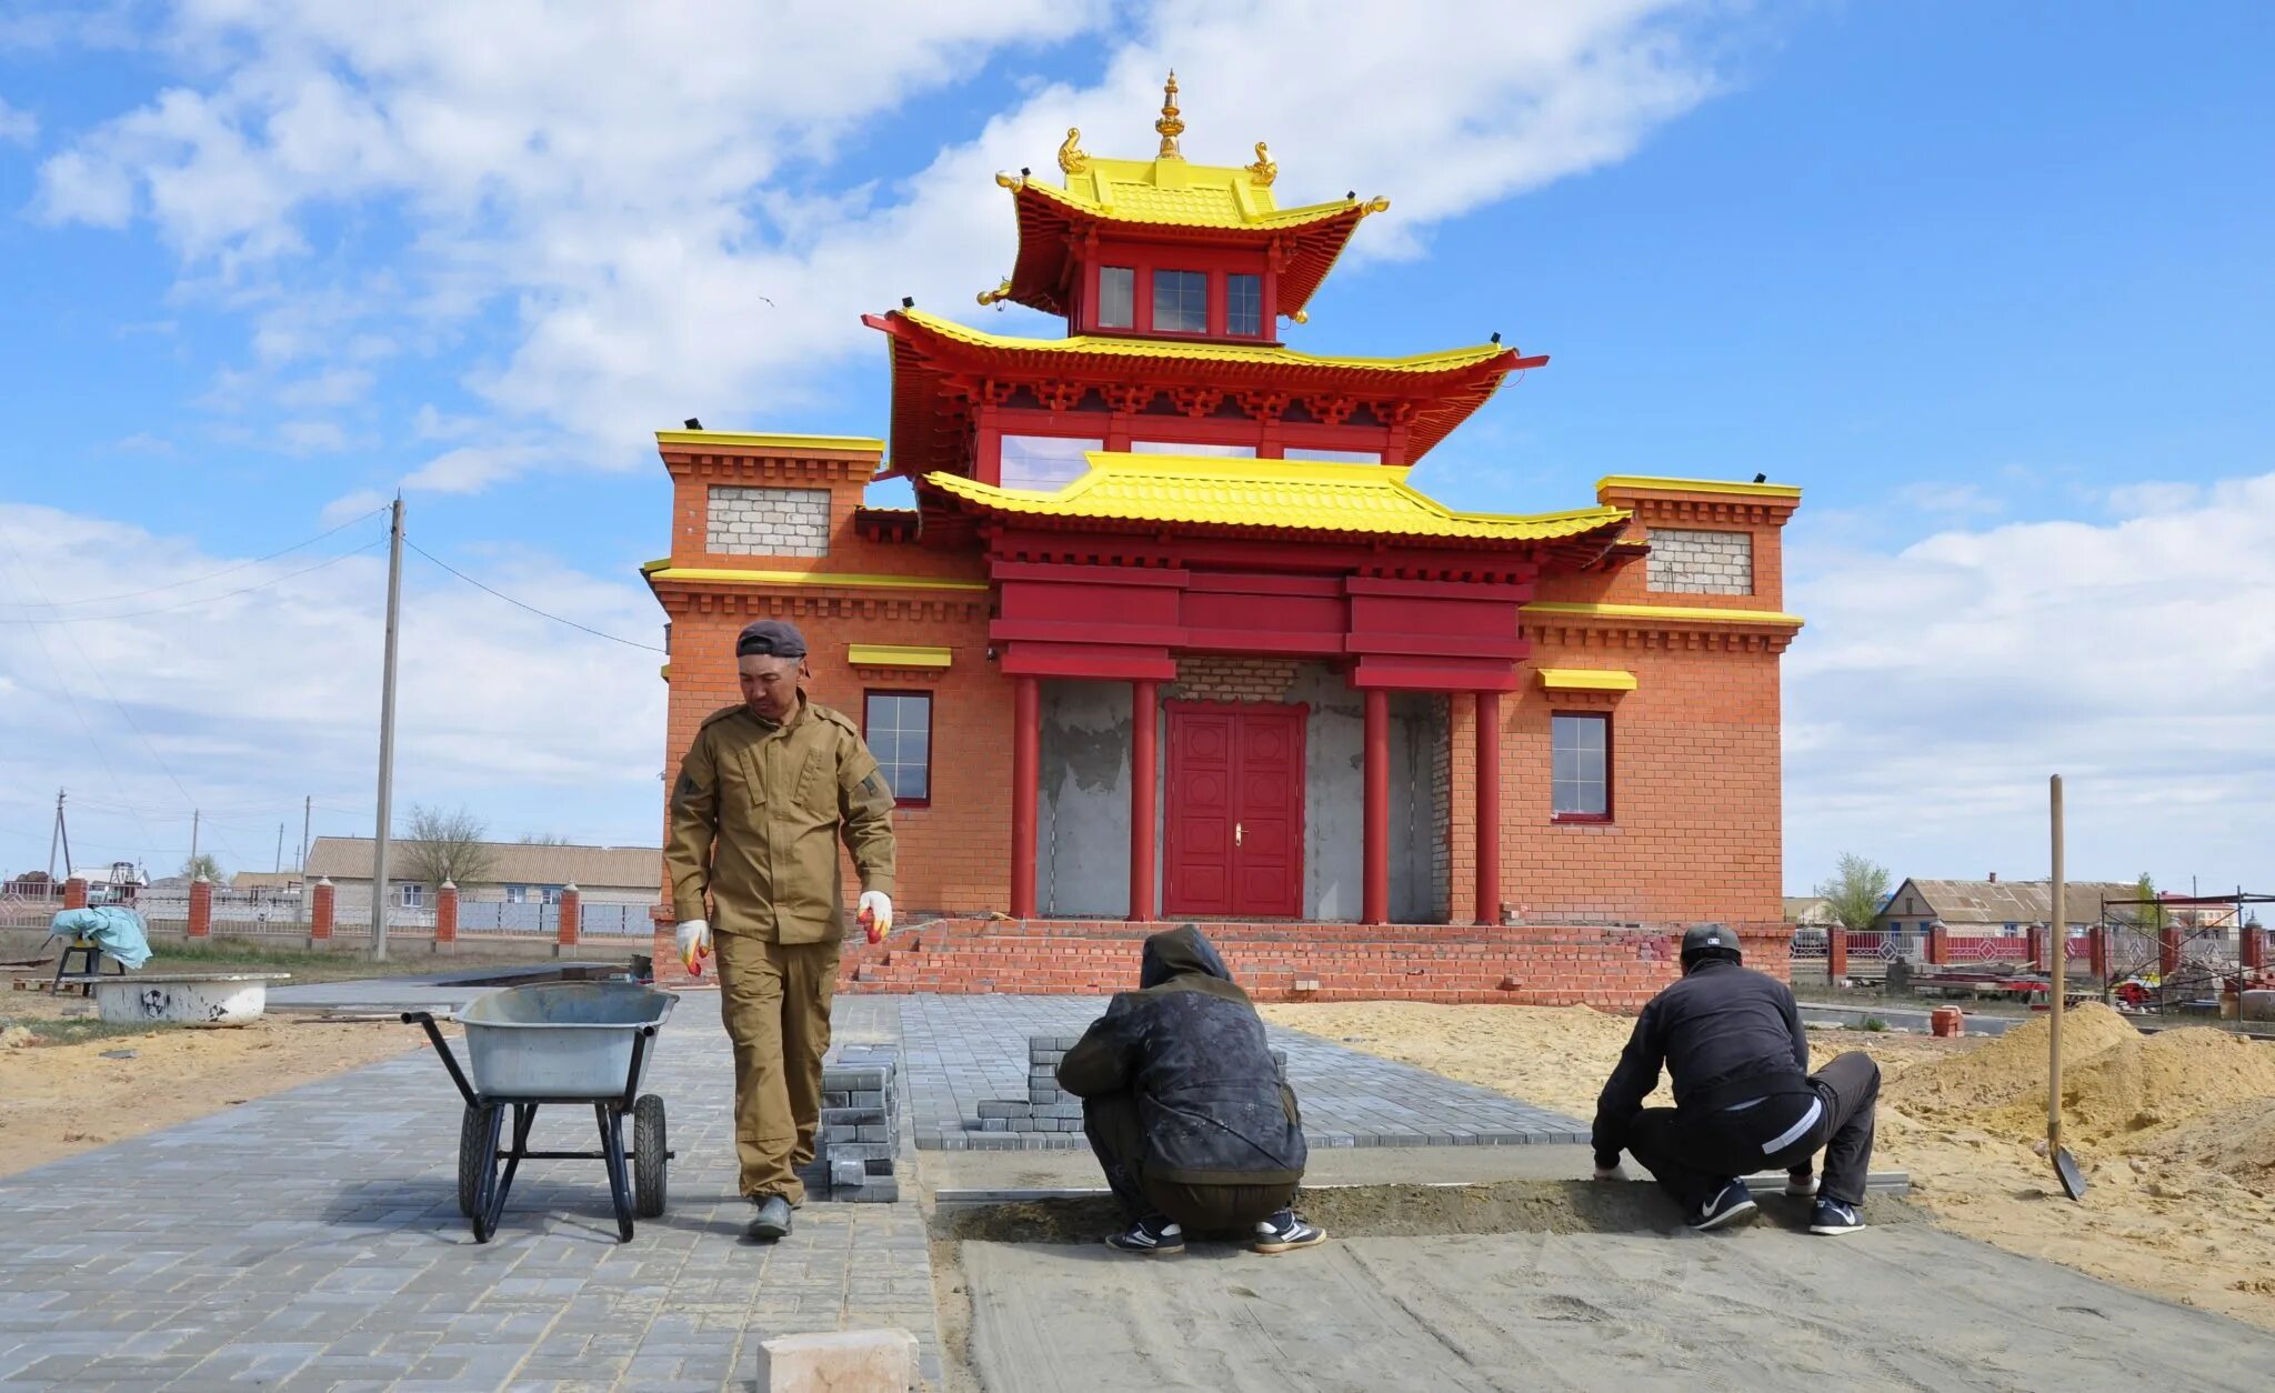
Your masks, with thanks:
[[[1410,403],[1406,462],[1420,460],[1492,396],[1520,357],[1502,344],[1410,357],[1320,357],[1279,344],[1222,339],[1119,339],[1074,335],[1017,339],[921,310],[867,316],[892,339],[892,471],[921,476],[958,462],[958,394],[990,378],[1049,378],[1083,387],[1147,382],[1156,389],[1331,394]]]

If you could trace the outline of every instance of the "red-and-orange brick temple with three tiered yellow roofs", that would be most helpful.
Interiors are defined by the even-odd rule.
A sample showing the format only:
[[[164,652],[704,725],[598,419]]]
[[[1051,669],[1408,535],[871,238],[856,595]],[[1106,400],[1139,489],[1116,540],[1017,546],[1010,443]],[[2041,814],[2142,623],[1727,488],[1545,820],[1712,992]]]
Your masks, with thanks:
[[[1263,146],[1185,162],[1174,82],[1156,132],[1151,159],[1069,132],[1058,182],[996,180],[1017,250],[978,300],[1062,337],[903,300],[867,316],[885,437],[657,432],[669,765],[737,701],[735,633],[783,617],[899,794],[903,920],[1715,920],[1784,945],[1800,489],[1438,503],[1415,467],[1547,357],[1294,348],[1388,200],[1281,207]],[[915,508],[871,508],[885,478]]]

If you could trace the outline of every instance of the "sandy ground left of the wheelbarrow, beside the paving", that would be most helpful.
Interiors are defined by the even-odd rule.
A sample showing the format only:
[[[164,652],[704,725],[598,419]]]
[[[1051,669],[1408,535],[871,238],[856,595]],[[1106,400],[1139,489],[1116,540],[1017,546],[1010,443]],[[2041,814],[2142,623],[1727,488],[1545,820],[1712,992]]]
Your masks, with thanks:
[[[189,1122],[325,1074],[421,1047],[400,1022],[296,1024],[266,1015],[234,1029],[105,1033],[39,1042],[43,1022],[93,1013],[80,997],[0,992],[0,1174]],[[132,1049],[132,1058],[102,1058]]]

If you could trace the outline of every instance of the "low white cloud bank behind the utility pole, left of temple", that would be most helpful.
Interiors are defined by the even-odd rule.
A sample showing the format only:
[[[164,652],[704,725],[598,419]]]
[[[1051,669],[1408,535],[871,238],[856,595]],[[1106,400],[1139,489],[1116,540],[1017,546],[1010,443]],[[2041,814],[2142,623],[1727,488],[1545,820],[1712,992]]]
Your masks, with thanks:
[[[0,594],[9,596],[0,603],[0,829],[39,829],[36,844],[0,833],[0,874],[46,865],[43,815],[18,803],[30,790],[52,799],[59,785],[73,790],[75,847],[148,854],[166,869],[187,849],[187,799],[241,829],[221,833],[230,869],[266,869],[280,819],[291,824],[289,854],[305,794],[346,810],[318,810],[318,833],[369,835],[387,553],[375,546],[284,576],[380,539],[384,521],[371,519],[307,551],[200,580],[241,558],[132,524],[0,505]],[[503,833],[576,829],[653,842],[662,658],[526,615],[414,555],[405,567],[398,808],[466,803]],[[637,583],[521,553],[462,569],[605,633],[662,642],[655,601]],[[166,590],[109,603],[18,603],[155,587]],[[118,619],[39,626],[36,635],[5,624],[55,612]]]

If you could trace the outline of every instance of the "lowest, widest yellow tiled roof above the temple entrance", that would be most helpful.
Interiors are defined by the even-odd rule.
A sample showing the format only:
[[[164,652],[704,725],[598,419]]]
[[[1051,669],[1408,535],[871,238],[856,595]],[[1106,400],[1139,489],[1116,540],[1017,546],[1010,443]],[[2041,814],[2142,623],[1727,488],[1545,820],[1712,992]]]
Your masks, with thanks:
[[[1406,469],[1292,460],[1122,455],[1092,451],[1090,473],[1058,492],[1006,489],[958,473],[926,483],[987,512],[1090,521],[1213,524],[1370,537],[1558,542],[1620,526],[1620,508],[1533,517],[1454,512],[1406,483]]]

